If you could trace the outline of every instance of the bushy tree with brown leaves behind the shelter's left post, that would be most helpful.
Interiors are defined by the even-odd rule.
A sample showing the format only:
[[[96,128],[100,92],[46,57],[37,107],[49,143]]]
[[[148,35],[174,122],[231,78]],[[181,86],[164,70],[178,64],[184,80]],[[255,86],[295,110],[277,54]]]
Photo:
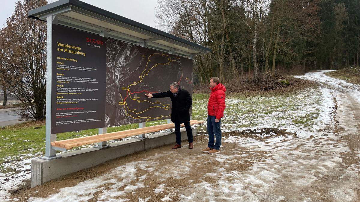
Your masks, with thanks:
[[[2,60],[11,72],[7,87],[22,103],[22,119],[45,118],[46,23],[29,19],[27,14],[46,3],[18,1],[3,32]]]

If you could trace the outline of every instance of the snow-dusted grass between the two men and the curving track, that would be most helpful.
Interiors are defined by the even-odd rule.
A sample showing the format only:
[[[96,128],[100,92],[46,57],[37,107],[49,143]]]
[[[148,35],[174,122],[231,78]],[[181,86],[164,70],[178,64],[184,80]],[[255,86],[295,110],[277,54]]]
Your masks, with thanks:
[[[298,129],[314,124],[319,116],[322,90],[307,88],[300,94],[276,97],[242,97],[230,94],[221,120],[222,131],[256,127]],[[205,97],[205,95],[203,96]],[[206,120],[207,100],[193,103],[193,119]],[[206,131],[206,123],[197,128]]]

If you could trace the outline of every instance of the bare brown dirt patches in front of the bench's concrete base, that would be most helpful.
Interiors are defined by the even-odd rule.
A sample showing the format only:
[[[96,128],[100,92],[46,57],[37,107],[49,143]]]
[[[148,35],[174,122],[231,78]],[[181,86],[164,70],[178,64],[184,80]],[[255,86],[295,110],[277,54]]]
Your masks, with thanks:
[[[226,135],[225,135],[226,136]],[[156,157],[156,160],[159,162],[157,165],[157,171],[160,173],[167,175],[168,173],[172,173],[172,170],[176,170],[180,173],[180,175],[174,175],[174,178],[171,180],[167,180],[166,184],[168,187],[172,187],[174,190],[181,190],[182,188],[190,187],[192,184],[201,183],[201,177],[206,173],[211,173],[213,169],[218,169],[221,166],[219,161],[213,160],[216,156],[210,155],[204,152],[201,152],[201,149],[207,147],[207,139],[208,137],[205,135],[197,136],[194,138],[194,149],[190,150],[188,148],[188,143],[184,142],[184,146],[177,150],[172,150],[172,145],[163,146],[159,148],[154,148],[152,150],[147,150],[143,152],[137,152],[129,156],[121,157],[119,159],[115,159],[112,161],[105,162],[102,165],[95,166],[90,169],[81,170],[77,173],[73,173],[67,176],[63,176],[60,179],[52,180],[49,183],[46,183],[41,186],[37,186],[31,189],[25,189],[19,191],[18,193],[13,195],[13,198],[18,198],[20,201],[26,201],[30,197],[47,197],[51,194],[59,192],[61,188],[75,186],[80,182],[84,182],[87,179],[95,178],[99,175],[103,175],[109,172],[116,167],[121,165],[126,165],[128,163],[134,161],[142,161],[144,158],[148,156],[159,156]],[[231,143],[223,143],[222,145],[224,150],[221,151],[224,155],[230,155],[234,150],[238,152],[238,147],[235,144]],[[240,148],[243,152],[248,153],[246,148]],[[262,154],[265,152],[254,152],[252,156],[257,158],[257,161],[261,161]],[[174,157],[176,156],[176,159]],[[246,161],[243,163],[239,163],[239,160],[242,157],[238,157],[232,159],[231,162],[228,162],[226,165],[226,170],[237,170],[237,171],[245,171],[248,167],[250,167],[254,161]],[[191,166],[191,170],[189,173],[181,175],[182,165]],[[195,167],[196,166],[196,167]],[[158,187],[160,184],[164,184],[161,175],[155,175],[154,172],[144,169],[139,169],[136,172],[136,175],[148,176],[146,179],[142,180],[145,185],[145,188],[136,189],[134,193],[128,193],[126,198],[130,199],[130,201],[139,201],[139,197],[148,198],[151,196],[151,201],[159,201],[164,198],[167,192],[163,193],[154,193],[153,190]],[[123,180],[119,178],[118,180]],[[208,183],[216,183],[216,179],[212,177],[208,177],[205,179]],[[138,180],[133,180],[128,182],[129,184],[135,185]],[[108,183],[100,185],[102,189],[110,189],[109,186],[114,183]],[[119,190],[123,190],[126,186],[122,186]],[[101,192],[96,192],[94,197],[89,201],[98,201],[98,197],[96,197]],[[230,194],[231,196],[231,194]],[[173,198],[174,201],[176,199]]]

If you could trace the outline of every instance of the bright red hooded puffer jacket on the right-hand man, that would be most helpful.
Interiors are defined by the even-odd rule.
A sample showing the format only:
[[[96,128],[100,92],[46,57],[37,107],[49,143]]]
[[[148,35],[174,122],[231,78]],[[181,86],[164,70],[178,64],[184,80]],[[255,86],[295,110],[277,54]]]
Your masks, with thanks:
[[[210,116],[216,116],[217,119],[220,119],[224,116],[226,88],[224,85],[219,83],[214,88],[210,89],[211,93],[209,102],[207,103],[207,114]]]

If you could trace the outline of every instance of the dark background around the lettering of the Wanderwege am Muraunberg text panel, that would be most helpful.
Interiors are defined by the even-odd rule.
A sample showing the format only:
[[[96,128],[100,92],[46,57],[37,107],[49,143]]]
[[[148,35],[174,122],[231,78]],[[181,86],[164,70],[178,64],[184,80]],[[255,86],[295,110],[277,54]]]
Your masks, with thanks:
[[[103,45],[94,44],[99,47],[89,46],[88,44],[93,44],[86,41],[86,38],[102,40]],[[69,44],[72,46],[81,47],[81,52],[85,52],[86,55],[72,54],[68,52],[57,51],[58,48],[64,49],[64,47],[59,47],[57,42],[64,44]],[[91,128],[101,128],[104,127],[105,121],[105,52],[106,52],[106,38],[100,37],[87,32],[78,31],[76,29],[67,28],[59,25],[53,25],[53,43],[52,43],[52,86],[51,86],[51,133],[63,133],[76,130],[85,130]],[[70,49],[68,50],[74,50]],[[77,59],[78,61],[69,61],[57,59],[61,58],[70,58]],[[79,66],[82,68],[93,68],[96,70],[59,70],[57,69],[57,62],[64,63],[64,65]],[[70,82],[68,84],[57,83],[57,73],[64,74],[67,77],[82,77],[82,78],[95,78],[98,83],[80,83],[80,82]],[[84,92],[77,91],[81,95],[57,95],[57,84],[64,85],[64,87],[73,87],[73,88],[96,88],[97,91],[94,92]],[[64,96],[64,98],[96,98],[97,100],[87,100],[85,102],[78,102],[77,104],[56,104],[56,97]],[[57,110],[57,108],[67,108],[67,107],[84,107],[84,110]],[[96,111],[93,113],[77,113],[76,117],[67,117],[67,118],[56,118],[56,113],[61,112],[81,112],[81,111]],[[57,121],[71,121],[71,120],[84,120],[84,119],[94,119],[99,121],[90,121],[83,123],[69,123],[57,125]]]

